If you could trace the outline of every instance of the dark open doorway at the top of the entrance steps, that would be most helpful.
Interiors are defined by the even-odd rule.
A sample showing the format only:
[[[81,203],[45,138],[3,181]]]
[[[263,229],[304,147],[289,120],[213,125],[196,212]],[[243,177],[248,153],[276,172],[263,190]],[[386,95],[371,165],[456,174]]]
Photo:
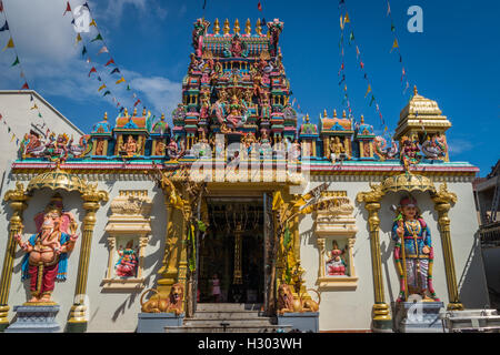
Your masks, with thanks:
[[[262,199],[208,197],[207,206],[210,226],[200,241],[198,302],[263,303]]]

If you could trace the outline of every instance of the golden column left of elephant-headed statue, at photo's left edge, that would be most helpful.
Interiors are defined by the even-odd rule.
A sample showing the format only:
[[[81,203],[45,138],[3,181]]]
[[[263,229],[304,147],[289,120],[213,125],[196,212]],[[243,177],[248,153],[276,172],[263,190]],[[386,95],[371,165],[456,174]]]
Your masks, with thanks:
[[[0,280],[0,332],[3,332],[3,329],[9,326],[8,316],[10,307],[8,302],[17,245],[13,236],[22,230],[22,211],[28,207],[27,201],[29,200],[29,196],[24,192],[24,186],[18,182],[16,184],[16,190],[9,190],[3,197],[3,201],[10,201],[13,213],[10,217],[9,240],[7,242]]]

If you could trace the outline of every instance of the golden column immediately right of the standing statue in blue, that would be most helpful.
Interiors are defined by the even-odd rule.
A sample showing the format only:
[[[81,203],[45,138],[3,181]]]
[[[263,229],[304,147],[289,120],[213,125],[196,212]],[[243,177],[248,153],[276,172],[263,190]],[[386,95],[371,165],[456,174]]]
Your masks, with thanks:
[[[441,235],[444,271],[447,274],[448,298],[450,300],[447,308],[449,311],[461,311],[463,310],[463,305],[460,303],[458,294],[453,250],[451,247],[450,219],[448,217],[451,202],[457,202],[457,194],[449,192],[447,183],[443,182],[439,187],[439,191],[432,196],[432,201],[434,202],[434,209],[438,211],[439,215],[439,233]]]

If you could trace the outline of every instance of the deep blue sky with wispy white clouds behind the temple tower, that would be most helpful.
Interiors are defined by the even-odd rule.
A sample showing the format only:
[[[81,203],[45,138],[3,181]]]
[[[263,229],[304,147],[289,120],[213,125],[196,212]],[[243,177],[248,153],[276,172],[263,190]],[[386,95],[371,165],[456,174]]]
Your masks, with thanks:
[[[74,9],[83,0],[71,0]],[[89,132],[104,111],[118,114],[110,97],[98,92],[100,83],[89,79],[90,65],[82,60],[81,44],[74,45],[76,32],[70,14],[62,17],[66,0],[3,0],[9,27],[31,89],[37,90],[62,114]],[[204,17],[213,23],[239,19],[241,29],[250,18],[279,18],[284,22],[280,38],[283,63],[291,90],[302,111],[313,120],[333,109],[341,112],[343,90],[339,87],[339,9],[338,1],[207,0]],[[346,0],[356,41],[361,51],[372,92],[389,130],[399,120],[400,110],[410,99],[402,93],[401,64],[392,47],[387,0]],[[203,0],[109,0],[89,1],[110,54],[134,92],[153,114],[170,116],[180,101],[181,81],[192,51],[192,23],[203,16]],[[410,33],[407,22],[410,6],[423,10],[423,32]],[[500,158],[500,57],[497,1],[392,0],[391,13],[397,28],[403,64],[410,84],[419,93],[438,101],[452,123],[447,136],[450,158],[468,161],[484,176]],[[3,18],[0,17],[0,26]],[[96,29],[83,33],[89,43]],[[0,45],[8,38],[0,32]],[[92,61],[106,63],[108,54],[97,54],[102,43],[87,44]],[[11,52],[0,52],[0,89],[20,89],[22,81]],[[129,108],[130,94],[114,90],[116,77],[100,72],[116,97]],[[112,80],[111,80],[112,79]],[[373,106],[369,106],[366,81],[359,70],[353,47],[346,45],[346,80],[353,114],[381,129]],[[142,108],[142,104],[140,104]],[[29,108],[27,108],[29,111]]]

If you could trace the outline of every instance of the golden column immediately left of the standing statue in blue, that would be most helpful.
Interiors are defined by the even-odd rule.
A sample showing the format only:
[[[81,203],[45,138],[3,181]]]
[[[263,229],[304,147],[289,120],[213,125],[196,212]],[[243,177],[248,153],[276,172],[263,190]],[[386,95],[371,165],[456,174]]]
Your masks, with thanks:
[[[389,312],[389,305],[384,300],[382,261],[379,240],[379,210],[380,200],[382,200],[383,197],[383,192],[380,185],[371,185],[371,192],[360,192],[356,199],[358,202],[364,202],[364,207],[369,213],[368,223],[370,230],[371,265],[373,271],[374,291],[374,304],[372,307],[372,329],[373,332],[391,332],[392,320]]]

